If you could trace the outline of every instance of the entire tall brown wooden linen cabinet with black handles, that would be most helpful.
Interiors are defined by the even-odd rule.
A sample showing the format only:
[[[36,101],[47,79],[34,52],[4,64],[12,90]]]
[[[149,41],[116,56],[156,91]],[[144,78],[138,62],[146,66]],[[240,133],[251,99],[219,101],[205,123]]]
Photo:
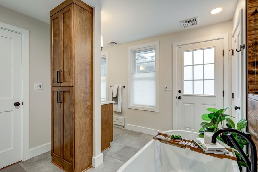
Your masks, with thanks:
[[[66,0],[51,17],[51,155],[68,172],[93,156],[93,9]]]

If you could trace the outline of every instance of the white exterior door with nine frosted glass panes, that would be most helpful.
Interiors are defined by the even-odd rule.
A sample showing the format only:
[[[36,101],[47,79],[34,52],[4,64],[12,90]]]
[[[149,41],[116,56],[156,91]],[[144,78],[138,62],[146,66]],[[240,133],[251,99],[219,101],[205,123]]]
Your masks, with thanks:
[[[223,39],[177,46],[177,130],[199,132],[209,107],[223,107]]]

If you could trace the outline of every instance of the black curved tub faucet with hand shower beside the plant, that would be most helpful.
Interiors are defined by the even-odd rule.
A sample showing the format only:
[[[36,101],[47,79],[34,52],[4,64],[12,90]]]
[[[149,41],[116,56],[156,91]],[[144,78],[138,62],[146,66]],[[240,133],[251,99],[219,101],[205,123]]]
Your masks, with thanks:
[[[249,172],[257,172],[257,155],[256,155],[256,147],[255,147],[255,143],[253,142],[253,140],[251,139],[251,137],[249,137],[247,134],[245,134],[242,131],[236,130],[234,128],[221,128],[219,130],[217,130],[213,136],[212,136],[212,143],[216,143],[216,139],[218,137],[218,135],[220,135],[223,132],[228,132],[228,137],[230,139],[230,141],[232,142],[232,144],[235,146],[236,150],[239,152],[239,154],[241,155],[241,157],[243,158],[243,160],[245,161],[245,163],[247,163],[248,167],[249,167]],[[237,143],[236,139],[234,138],[234,136],[232,135],[232,133],[236,133],[239,134],[240,136],[242,136],[243,138],[245,138],[245,140],[247,140],[247,142],[250,145],[251,148],[251,162],[248,159],[248,157],[245,155],[243,149],[239,146],[239,144]]]

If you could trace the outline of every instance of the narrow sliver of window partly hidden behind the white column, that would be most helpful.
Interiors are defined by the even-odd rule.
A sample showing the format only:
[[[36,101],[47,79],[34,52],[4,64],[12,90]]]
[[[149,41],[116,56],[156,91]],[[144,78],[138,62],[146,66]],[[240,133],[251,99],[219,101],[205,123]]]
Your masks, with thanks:
[[[107,100],[107,57],[101,56],[101,100]]]

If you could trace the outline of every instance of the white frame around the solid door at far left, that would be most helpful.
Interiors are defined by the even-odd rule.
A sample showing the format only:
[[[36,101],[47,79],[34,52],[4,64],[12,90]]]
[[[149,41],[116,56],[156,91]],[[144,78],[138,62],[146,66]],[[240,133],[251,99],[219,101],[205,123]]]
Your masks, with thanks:
[[[0,22],[0,28],[21,34],[22,46],[22,161],[29,159],[29,31]]]

